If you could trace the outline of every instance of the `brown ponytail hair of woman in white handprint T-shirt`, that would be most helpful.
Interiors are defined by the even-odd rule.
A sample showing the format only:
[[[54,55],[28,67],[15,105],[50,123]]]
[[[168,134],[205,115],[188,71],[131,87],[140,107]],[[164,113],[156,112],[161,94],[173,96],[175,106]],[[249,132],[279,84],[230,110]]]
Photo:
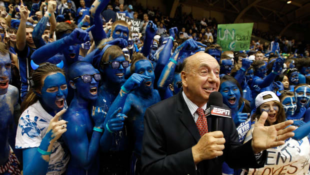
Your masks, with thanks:
[[[33,70],[31,77],[28,77],[30,90],[28,91],[25,99],[20,105],[21,112],[23,112],[25,109],[27,109],[30,105],[34,104],[39,99],[36,93],[41,91],[44,85],[44,78],[50,73],[57,72],[65,76],[62,69],[51,63],[42,63],[37,69]]]

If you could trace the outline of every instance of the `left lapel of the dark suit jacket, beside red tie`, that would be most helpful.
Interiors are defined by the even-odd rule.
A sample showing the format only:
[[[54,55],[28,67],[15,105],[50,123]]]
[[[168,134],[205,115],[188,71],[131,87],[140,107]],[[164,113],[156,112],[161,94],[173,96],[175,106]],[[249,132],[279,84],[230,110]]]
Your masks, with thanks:
[[[181,115],[179,115],[179,118],[181,120],[181,122],[184,124],[184,126],[187,128],[187,130],[191,133],[191,135],[194,137],[194,139],[196,140],[196,142],[198,142],[198,140],[200,139],[200,134],[199,131],[197,129],[196,123],[192,118],[192,115],[189,112],[189,109],[183,99],[182,96],[182,91],[180,91],[177,94],[177,110],[181,113]]]

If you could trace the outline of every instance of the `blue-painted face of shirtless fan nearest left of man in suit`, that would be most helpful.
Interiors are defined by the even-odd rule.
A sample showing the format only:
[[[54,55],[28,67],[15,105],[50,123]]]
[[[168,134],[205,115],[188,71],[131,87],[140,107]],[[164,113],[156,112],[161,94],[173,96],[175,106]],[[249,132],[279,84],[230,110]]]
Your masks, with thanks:
[[[139,87],[139,90],[143,93],[149,93],[153,89],[153,82],[155,79],[155,74],[153,71],[152,64],[148,60],[139,60],[134,63],[135,69],[134,73],[142,74],[150,77],[150,79],[145,79]]]

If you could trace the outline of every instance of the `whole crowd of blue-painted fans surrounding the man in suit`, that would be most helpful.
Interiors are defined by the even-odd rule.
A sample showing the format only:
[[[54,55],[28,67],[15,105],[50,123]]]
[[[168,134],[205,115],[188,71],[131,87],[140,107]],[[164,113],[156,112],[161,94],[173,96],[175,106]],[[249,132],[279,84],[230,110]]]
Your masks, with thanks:
[[[153,9],[136,32],[125,21],[102,19],[110,7],[123,11],[109,3],[46,1],[28,10],[20,1],[0,18],[1,174],[140,174],[144,112],[182,91],[182,63],[198,52],[220,66],[218,91],[239,143],[266,111],[265,125],[294,120],[298,128],[286,144],[309,147],[310,48],[297,52],[275,37],[262,49],[252,41],[247,51],[223,52],[215,44],[216,20],[203,19],[198,28],[206,37],[195,37],[190,17],[186,33]],[[309,150],[302,152],[290,162],[309,161]],[[309,162],[304,167],[294,173],[308,173]],[[222,166],[225,174],[261,171]]]

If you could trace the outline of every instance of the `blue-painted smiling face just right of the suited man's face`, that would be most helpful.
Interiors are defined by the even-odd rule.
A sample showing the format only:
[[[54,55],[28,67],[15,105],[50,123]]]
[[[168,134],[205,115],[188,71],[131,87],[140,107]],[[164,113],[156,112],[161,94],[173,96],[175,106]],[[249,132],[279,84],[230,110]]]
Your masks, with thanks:
[[[220,85],[219,92],[223,96],[223,103],[230,109],[237,109],[240,99],[238,86],[231,81],[225,81]]]

